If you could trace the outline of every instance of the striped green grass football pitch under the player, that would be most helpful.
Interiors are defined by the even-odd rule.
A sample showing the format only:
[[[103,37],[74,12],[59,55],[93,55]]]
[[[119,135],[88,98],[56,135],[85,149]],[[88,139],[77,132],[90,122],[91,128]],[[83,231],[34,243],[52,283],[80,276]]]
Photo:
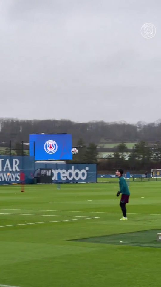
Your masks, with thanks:
[[[0,287],[160,287],[161,181],[0,186]]]

